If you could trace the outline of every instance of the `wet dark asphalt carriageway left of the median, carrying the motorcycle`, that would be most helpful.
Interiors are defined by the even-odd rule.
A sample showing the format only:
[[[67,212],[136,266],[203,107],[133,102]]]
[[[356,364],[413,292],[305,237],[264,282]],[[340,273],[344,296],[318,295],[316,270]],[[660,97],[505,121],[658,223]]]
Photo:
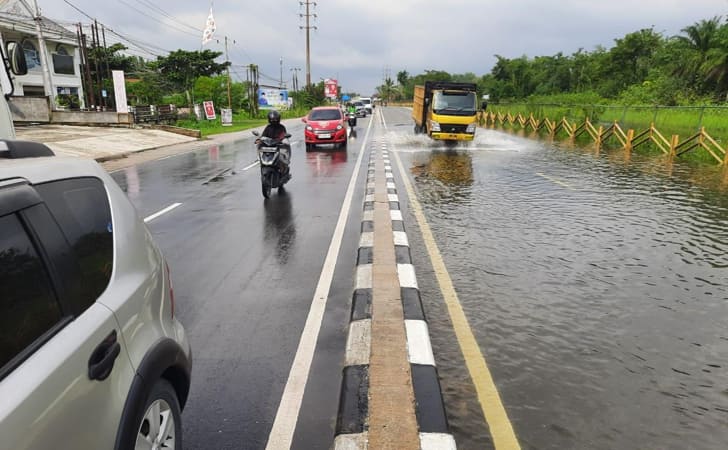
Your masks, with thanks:
[[[359,130],[367,120],[360,119]],[[347,185],[360,151],[305,152],[293,134],[293,179],[264,200],[253,136],[117,171],[167,258],[176,314],[193,347],[183,414],[186,449],[261,449],[275,418]],[[361,133],[363,134],[363,132]],[[220,175],[220,176],[215,176]],[[294,448],[333,440],[353,288],[363,184],[319,335]]]

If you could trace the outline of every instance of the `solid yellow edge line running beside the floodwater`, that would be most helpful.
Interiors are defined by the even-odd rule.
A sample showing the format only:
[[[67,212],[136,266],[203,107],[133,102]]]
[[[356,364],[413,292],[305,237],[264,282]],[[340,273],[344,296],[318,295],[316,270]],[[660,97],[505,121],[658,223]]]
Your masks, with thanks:
[[[483,410],[483,415],[490,428],[491,437],[493,438],[493,444],[496,449],[499,450],[518,450],[521,446],[518,444],[518,439],[513,431],[513,426],[508,419],[503,403],[501,402],[498,389],[495,386],[493,377],[488,369],[488,364],[485,362],[485,357],[480,351],[480,346],[475,340],[473,331],[468,324],[468,319],[465,316],[460,300],[458,299],[455,288],[453,287],[450,274],[445,267],[445,262],[442,260],[440,250],[435,243],[435,238],[430,230],[430,225],[425,219],[425,214],[422,212],[422,206],[420,205],[417,197],[415,196],[412,184],[404,171],[402,162],[399,159],[397,152],[392,152],[394,158],[397,160],[397,166],[399,173],[404,181],[405,188],[407,190],[407,196],[409,197],[412,211],[417,218],[417,223],[422,230],[422,238],[425,241],[425,247],[427,247],[427,253],[432,261],[432,266],[435,269],[435,276],[437,282],[440,285],[440,291],[445,299],[447,310],[450,314],[450,320],[452,321],[455,335],[460,345],[460,350],[465,358],[465,365],[468,368],[470,377],[475,384],[475,390],[478,393],[478,401],[480,407]]]

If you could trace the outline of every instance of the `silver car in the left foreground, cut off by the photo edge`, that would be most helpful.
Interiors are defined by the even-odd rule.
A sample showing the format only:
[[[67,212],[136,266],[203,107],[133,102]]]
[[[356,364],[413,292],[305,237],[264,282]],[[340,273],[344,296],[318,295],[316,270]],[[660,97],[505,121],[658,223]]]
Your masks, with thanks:
[[[182,448],[169,268],[95,161],[0,141],[0,447]]]

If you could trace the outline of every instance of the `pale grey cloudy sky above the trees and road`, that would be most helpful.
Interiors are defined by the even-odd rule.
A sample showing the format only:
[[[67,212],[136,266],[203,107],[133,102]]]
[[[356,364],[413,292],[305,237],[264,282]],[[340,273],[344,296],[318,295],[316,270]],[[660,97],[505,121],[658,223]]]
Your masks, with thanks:
[[[163,50],[199,50],[210,2],[192,0],[68,0],[133,38],[134,53],[154,58]],[[62,23],[90,20],[64,0],[37,0],[43,15]],[[261,83],[289,86],[293,68],[305,83],[305,10],[297,0],[215,0],[215,38],[204,48],[224,50],[227,36],[233,76],[258,64]],[[641,28],[666,36],[702,19],[728,16],[728,0],[318,0],[311,6],[311,80],[337,78],[345,92],[369,95],[385,73],[396,78],[427,69],[489,73],[494,55],[516,58],[571,54]],[[107,35],[113,40],[113,35]],[[234,41],[234,43],[233,43]],[[128,44],[127,44],[128,45]]]

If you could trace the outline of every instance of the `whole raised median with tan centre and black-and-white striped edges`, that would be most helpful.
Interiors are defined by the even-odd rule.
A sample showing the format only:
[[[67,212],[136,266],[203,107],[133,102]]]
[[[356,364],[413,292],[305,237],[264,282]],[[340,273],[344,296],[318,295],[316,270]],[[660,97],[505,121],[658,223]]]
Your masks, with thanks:
[[[370,147],[337,450],[455,449],[387,145]]]

